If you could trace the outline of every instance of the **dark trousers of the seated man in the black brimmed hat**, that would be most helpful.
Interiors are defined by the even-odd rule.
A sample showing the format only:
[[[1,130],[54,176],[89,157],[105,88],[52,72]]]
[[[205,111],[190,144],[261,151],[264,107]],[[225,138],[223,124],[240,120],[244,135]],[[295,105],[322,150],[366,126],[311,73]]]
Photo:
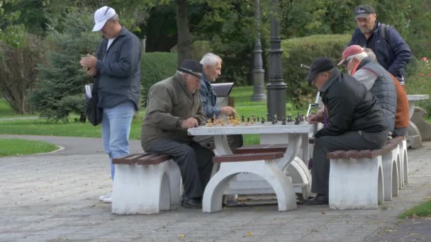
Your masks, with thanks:
[[[213,151],[197,142],[180,143],[172,139],[155,139],[145,152],[172,156],[181,171],[184,196],[202,197],[213,170]]]

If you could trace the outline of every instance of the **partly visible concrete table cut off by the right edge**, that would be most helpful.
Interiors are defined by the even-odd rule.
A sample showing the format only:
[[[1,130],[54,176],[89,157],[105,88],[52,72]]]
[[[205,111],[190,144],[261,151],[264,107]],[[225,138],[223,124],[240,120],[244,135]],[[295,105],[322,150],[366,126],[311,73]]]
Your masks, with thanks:
[[[410,121],[408,122],[408,136],[407,144],[410,148],[416,149],[422,145],[422,137],[420,136],[420,131],[418,127],[412,122],[411,118],[415,112],[415,103],[420,100],[427,100],[430,98],[429,95],[408,95],[408,117]]]

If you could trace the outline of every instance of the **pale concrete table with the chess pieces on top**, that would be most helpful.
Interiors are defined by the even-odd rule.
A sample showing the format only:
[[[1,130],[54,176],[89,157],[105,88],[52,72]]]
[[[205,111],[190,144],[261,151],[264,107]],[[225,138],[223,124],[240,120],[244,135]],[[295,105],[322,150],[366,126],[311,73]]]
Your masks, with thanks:
[[[254,125],[232,125],[207,127],[201,126],[188,129],[189,135],[211,135],[214,137],[215,149],[217,154],[233,154],[228,145],[228,134],[260,134],[262,144],[289,144],[284,154],[284,158],[277,163],[281,171],[291,177],[294,190],[297,193],[303,193],[303,197],[308,197],[310,190],[311,175],[306,163],[296,156],[302,146],[301,156],[308,159],[308,136],[315,132],[316,126],[308,122],[302,122],[300,125],[272,125],[270,122]],[[220,164],[223,166],[223,163]],[[296,185],[296,186],[295,186]],[[304,185],[306,190],[304,190]],[[268,194],[274,193],[271,186],[266,180],[257,175],[241,173],[236,179],[230,181],[225,195],[238,194]]]

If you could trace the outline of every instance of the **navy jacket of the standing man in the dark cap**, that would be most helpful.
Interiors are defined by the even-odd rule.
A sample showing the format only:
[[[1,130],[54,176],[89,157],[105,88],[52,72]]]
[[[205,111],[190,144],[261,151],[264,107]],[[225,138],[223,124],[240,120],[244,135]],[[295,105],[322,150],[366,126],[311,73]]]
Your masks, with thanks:
[[[401,85],[404,85],[404,69],[412,59],[412,52],[395,28],[388,26],[387,37],[385,38],[388,41],[386,41],[381,36],[381,27],[381,23],[376,21],[374,32],[368,40],[361,33],[361,30],[356,28],[352,34],[352,40],[347,46],[360,45],[373,50],[379,64],[391,72],[393,76],[396,76]]]

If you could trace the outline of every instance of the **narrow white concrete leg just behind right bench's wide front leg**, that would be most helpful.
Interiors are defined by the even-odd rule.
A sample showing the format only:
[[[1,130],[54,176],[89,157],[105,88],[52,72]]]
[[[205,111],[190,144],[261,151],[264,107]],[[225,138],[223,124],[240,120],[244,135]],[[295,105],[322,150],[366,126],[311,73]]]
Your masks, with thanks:
[[[398,196],[398,146],[382,158],[383,177],[385,185],[385,201],[391,201],[392,197]]]

